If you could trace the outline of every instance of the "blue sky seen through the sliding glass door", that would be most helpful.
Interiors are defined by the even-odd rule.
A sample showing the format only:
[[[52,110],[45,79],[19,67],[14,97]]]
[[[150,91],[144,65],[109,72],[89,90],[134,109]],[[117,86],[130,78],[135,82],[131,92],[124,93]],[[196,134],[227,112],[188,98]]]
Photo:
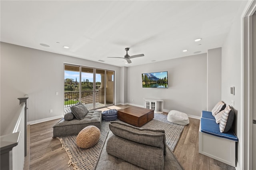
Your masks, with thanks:
[[[81,74],[81,80],[85,81],[86,79],[89,80],[89,82],[93,82],[93,73],[82,73]],[[74,81],[79,82],[79,72],[77,71],[64,71],[64,79],[74,79]],[[96,74],[96,82],[101,81],[101,75]]]

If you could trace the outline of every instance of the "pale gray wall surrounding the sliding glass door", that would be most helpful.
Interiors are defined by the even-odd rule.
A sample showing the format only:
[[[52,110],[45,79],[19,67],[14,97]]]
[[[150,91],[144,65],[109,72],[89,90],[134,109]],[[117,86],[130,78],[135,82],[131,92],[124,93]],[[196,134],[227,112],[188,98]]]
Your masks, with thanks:
[[[28,121],[63,116],[64,62],[114,70],[120,82],[120,67],[1,42],[1,133],[18,109],[17,98],[25,94]],[[119,93],[120,83],[116,83],[116,103],[120,103]]]

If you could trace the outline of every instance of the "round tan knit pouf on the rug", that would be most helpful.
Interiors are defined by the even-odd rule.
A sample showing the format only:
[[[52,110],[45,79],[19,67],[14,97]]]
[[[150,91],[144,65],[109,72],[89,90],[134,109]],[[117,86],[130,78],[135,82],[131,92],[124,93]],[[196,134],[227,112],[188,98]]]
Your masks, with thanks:
[[[96,126],[88,126],[83,128],[76,137],[78,147],[87,149],[94,146],[100,138],[100,129]]]

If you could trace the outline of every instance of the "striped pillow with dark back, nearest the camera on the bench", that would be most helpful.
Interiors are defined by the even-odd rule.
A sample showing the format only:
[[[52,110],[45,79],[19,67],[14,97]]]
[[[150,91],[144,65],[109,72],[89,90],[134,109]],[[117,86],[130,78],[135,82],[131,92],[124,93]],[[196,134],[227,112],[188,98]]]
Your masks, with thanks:
[[[220,119],[220,132],[226,133],[232,127],[235,113],[230,105],[226,106]]]

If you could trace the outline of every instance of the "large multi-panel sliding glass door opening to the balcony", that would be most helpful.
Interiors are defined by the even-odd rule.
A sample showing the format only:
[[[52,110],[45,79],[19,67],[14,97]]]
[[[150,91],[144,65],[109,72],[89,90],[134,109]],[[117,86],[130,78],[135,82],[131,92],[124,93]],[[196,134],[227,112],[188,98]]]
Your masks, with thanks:
[[[64,108],[69,111],[78,101],[87,109],[113,105],[114,71],[65,64]]]

